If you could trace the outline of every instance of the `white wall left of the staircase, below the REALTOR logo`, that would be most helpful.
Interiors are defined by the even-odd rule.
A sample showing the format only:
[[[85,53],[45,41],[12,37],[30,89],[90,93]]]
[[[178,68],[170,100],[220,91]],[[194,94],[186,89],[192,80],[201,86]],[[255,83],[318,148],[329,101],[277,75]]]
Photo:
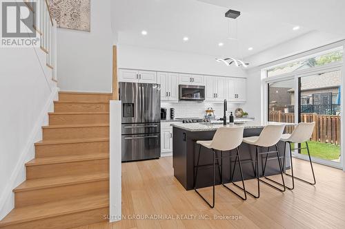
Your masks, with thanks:
[[[39,61],[41,60],[41,61]],[[0,51],[0,219],[14,207],[12,189],[26,178],[57,87],[46,54],[34,48]]]

